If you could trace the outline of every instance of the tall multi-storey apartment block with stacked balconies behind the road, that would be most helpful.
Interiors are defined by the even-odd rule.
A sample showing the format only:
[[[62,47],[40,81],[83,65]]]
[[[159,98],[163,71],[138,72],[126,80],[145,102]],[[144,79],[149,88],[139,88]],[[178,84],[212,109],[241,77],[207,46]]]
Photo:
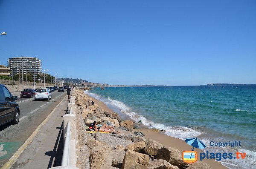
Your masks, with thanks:
[[[23,74],[29,73],[33,75],[34,68],[33,63],[35,63],[35,80],[39,80],[38,75],[42,72],[42,60],[39,60],[37,57],[12,57],[8,59],[8,67],[10,71],[13,71],[13,74],[19,74],[22,77],[22,67]],[[10,74],[12,77],[12,73]]]

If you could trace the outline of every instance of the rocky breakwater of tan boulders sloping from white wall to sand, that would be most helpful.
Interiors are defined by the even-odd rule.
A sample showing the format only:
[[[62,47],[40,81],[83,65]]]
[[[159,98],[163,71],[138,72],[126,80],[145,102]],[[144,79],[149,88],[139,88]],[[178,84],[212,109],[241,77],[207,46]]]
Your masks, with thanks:
[[[117,113],[108,112],[83,90],[75,90],[78,123],[78,160],[81,169],[209,169],[206,163],[184,163],[180,151],[165,147],[155,140],[145,139],[131,120],[121,120]],[[88,133],[86,127],[98,124],[113,126],[119,134]]]

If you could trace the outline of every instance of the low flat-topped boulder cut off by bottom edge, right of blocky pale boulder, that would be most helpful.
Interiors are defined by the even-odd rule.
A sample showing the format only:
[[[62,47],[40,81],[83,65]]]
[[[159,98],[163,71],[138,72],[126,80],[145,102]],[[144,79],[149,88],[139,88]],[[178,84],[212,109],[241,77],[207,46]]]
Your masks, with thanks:
[[[149,160],[148,169],[179,169],[179,167],[173,166],[166,160],[157,160],[153,158],[152,160]]]

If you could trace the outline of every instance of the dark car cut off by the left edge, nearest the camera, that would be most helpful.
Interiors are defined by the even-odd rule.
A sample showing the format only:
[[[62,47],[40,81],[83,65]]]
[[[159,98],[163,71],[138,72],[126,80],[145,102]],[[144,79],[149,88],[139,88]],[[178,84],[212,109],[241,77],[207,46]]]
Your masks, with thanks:
[[[19,123],[20,108],[17,96],[12,96],[6,86],[0,84],[0,126],[9,122]]]

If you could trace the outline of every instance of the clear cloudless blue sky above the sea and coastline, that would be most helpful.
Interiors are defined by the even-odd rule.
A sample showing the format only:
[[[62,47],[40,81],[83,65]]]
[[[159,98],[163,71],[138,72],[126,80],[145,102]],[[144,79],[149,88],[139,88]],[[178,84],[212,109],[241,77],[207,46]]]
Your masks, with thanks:
[[[256,0],[0,0],[0,64],[108,84],[256,84]]]

